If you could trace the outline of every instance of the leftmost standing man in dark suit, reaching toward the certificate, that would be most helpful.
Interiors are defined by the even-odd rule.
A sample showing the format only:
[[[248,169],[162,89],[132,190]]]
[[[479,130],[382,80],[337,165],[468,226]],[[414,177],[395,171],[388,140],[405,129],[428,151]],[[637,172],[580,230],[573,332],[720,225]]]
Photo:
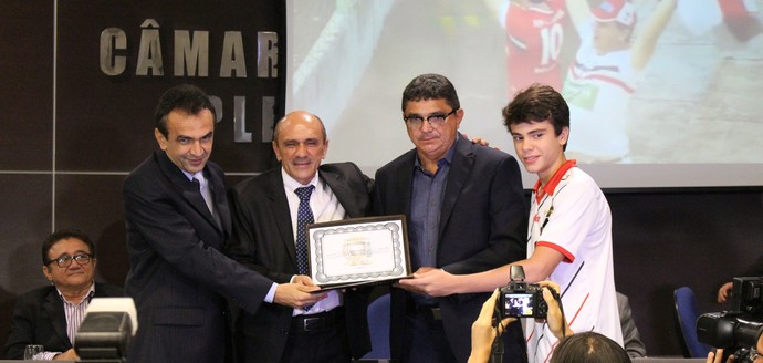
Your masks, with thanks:
[[[165,92],[155,113],[154,153],[124,183],[129,272],[139,329],[132,362],[230,361],[227,300],[254,313],[262,302],[290,307],[322,294],[275,284],[223,255],[231,219],[220,167],[208,163],[215,110],[196,86]]]

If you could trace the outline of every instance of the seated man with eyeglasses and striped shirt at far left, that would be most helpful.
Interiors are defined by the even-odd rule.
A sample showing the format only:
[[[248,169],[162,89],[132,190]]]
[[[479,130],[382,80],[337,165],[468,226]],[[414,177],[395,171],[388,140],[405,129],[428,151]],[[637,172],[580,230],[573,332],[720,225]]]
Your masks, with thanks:
[[[51,286],[18,298],[3,357],[21,360],[27,344],[41,344],[35,360],[79,360],[73,343],[93,298],[122,297],[122,288],[94,282],[95,246],[82,231],[64,229],[42,243],[42,273]]]

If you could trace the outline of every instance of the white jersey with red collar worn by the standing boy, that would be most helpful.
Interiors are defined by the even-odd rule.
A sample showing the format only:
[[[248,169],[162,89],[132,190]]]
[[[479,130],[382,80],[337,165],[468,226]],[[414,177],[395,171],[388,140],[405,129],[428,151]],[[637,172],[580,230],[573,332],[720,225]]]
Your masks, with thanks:
[[[531,201],[527,257],[537,246],[564,256],[548,280],[560,284],[573,332],[595,331],[623,345],[615,295],[612,214],[596,182],[567,160]],[[548,362],[557,344],[547,324],[525,321],[530,362]]]

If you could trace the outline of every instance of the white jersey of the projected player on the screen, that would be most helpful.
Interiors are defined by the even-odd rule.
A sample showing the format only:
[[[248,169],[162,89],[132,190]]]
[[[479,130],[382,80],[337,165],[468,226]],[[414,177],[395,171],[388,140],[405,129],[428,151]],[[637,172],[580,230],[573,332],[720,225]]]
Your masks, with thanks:
[[[593,32],[593,24],[586,31]],[[572,132],[567,152],[617,159],[629,152],[626,131],[630,97],[641,80],[630,50],[598,54],[593,33],[582,43],[564,80],[562,95],[569,106]]]

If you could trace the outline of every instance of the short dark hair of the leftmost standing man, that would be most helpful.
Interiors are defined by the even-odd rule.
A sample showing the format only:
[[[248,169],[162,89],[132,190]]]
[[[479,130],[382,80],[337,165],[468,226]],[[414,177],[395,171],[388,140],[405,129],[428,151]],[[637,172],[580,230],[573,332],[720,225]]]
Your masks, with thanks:
[[[212,102],[209,101],[209,96],[207,96],[201,89],[192,84],[176,85],[165,91],[154,112],[156,128],[159,129],[165,137],[169,136],[169,132],[167,131],[167,115],[174,110],[184,111],[191,115],[198,114],[201,110],[209,110],[212,112],[212,120],[217,118]]]

